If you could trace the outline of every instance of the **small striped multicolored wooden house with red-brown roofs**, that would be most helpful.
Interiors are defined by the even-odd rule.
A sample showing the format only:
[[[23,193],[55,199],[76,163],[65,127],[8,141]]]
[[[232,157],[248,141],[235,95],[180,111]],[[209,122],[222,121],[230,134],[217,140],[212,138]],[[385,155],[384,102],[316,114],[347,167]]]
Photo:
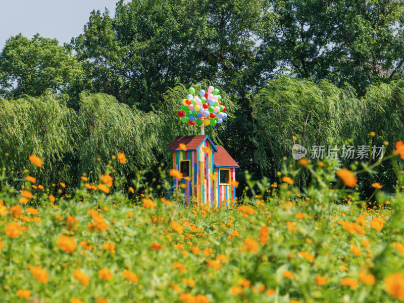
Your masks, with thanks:
[[[180,143],[184,144],[182,149]],[[231,183],[239,166],[223,146],[215,145],[207,135],[178,136],[167,151],[173,153],[173,168],[183,175],[181,180],[174,178],[173,185],[177,191],[183,187],[185,204],[196,201],[198,205],[229,206],[233,203],[236,188]]]

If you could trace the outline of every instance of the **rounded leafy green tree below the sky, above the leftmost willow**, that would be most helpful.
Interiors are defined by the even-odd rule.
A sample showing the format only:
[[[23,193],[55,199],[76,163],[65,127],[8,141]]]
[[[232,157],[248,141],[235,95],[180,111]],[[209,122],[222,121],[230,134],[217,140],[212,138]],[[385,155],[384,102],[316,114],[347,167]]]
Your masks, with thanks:
[[[68,93],[74,106],[80,90],[90,83],[71,49],[56,39],[39,34],[28,39],[20,33],[6,41],[0,54],[0,97],[39,96],[51,88]]]

